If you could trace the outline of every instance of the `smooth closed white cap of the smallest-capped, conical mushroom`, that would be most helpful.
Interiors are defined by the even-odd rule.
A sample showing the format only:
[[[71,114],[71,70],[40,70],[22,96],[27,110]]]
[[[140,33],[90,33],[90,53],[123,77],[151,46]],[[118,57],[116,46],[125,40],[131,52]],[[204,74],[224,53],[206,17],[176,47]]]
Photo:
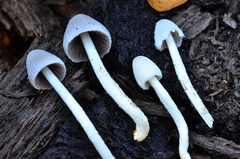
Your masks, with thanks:
[[[162,72],[158,66],[145,56],[137,56],[132,62],[133,74],[138,85],[147,90],[151,86],[148,80],[156,77],[158,80],[162,78]]]

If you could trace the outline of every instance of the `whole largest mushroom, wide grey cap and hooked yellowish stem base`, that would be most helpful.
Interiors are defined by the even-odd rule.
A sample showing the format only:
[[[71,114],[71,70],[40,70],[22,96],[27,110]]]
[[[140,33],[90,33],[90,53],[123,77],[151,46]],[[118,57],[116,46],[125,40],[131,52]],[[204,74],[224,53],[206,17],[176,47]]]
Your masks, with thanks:
[[[108,30],[84,14],[78,14],[69,21],[63,38],[63,48],[69,59],[73,62],[90,60],[102,87],[136,123],[133,138],[140,142],[148,135],[148,119],[111,78],[100,58],[109,52],[111,43]]]

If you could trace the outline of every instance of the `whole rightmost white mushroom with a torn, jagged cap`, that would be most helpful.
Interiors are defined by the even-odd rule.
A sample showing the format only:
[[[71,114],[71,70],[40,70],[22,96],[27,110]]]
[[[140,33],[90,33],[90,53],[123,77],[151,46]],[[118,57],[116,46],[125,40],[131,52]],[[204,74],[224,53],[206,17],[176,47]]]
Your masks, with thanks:
[[[203,120],[212,128],[213,118],[193,88],[177,49],[181,45],[183,37],[182,30],[172,21],[162,19],[156,23],[154,33],[155,47],[160,51],[165,48],[169,49],[176,74],[184,91]]]

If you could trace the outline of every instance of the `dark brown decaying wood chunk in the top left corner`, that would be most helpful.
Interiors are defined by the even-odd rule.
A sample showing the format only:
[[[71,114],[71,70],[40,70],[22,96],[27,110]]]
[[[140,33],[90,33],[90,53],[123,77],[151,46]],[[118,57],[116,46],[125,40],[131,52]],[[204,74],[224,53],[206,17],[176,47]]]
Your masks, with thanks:
[[[1,22],[7,29],[15,29],[21,36],[43,37],[59,26],[45,1],[1,0],[0,7]]]

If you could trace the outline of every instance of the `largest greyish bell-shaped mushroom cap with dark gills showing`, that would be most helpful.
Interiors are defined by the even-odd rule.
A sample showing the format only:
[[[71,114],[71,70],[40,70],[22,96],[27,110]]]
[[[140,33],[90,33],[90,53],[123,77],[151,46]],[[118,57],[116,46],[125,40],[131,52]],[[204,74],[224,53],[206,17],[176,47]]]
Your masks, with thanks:
[[[84,14],[75,15],[70,19],[63,37],[63,48],[73,62],[88,61],[80,34],[89,35],[102,58],[111,48],[112,40],[109,31],[98,21]]]

